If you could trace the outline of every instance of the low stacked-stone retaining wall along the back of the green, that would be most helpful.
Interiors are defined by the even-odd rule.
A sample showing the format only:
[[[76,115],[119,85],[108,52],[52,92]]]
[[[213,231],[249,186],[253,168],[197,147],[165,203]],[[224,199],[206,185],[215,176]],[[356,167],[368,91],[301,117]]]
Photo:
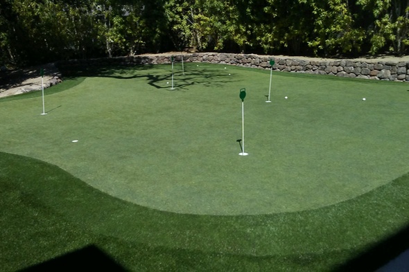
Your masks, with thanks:
[[[132,57],[112,57],[91,60],[69,60],[59,62],[59,66],[78,65],[132,65],[171,63],[172,55],[137,55]],[[174,55],[180,62],[182,55]],[[230,54],[230,53],[183,53],[184,62],[209,62],[270,69],[270,60],[275,60],[273,71],[336,75],[345,78],[367,78],[409,82],[409,62],[373,60],[318,60],[305,57],[277,57],[272,55]]]

